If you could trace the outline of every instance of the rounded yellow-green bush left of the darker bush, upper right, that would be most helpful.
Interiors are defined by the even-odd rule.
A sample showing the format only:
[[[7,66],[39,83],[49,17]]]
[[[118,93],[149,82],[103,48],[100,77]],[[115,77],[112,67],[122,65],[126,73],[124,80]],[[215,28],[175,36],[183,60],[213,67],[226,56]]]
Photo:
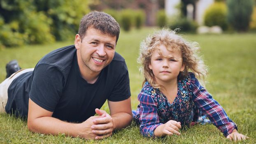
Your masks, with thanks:
[[[204,23],[205,26],[220,26],[223,30],[227,30],[228,22],[227,7],[224,2],[214,2],[205,11]]]

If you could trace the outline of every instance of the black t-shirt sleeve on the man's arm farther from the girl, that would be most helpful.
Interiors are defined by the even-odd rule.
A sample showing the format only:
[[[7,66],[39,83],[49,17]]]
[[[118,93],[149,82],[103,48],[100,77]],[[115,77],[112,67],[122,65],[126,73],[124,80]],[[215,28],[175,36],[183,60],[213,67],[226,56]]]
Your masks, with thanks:
[[[29,98],[40,107],[54,111],[63,91],[63,74],[54,66],[40,64],[35,67]]]

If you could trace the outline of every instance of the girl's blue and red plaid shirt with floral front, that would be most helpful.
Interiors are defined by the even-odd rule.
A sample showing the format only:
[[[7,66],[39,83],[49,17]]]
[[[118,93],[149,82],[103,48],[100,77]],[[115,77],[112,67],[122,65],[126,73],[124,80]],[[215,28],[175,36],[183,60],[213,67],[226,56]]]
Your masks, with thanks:
[[[145,83],[138,95],[140,105],[137,112],[133,111],[133,118],[140,123],[140,132],[145,137],[154,137],[154,130],[169,120],[175,120],[182,125],[190,125],[195,120],[193,106],[209,118],[210,121],[225,136],[237,129],[236,124],[228,118],[224,109],[212,98],[204,87],[189,73],[184,80],[178,81],[178,93],[174,102],[170,104],[158,88]]]

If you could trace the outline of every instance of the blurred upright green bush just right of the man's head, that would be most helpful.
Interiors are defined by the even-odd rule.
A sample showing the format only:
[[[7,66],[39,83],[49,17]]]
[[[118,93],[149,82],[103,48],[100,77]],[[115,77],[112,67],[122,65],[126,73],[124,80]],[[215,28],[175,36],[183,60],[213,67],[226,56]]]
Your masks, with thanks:
[[[133,11],[130,9],[125,9],[121,12],[121,17],[120,17],[120,24],[121,28],[125,31],[129,31],[130,28],[132,27],[133,23]]]

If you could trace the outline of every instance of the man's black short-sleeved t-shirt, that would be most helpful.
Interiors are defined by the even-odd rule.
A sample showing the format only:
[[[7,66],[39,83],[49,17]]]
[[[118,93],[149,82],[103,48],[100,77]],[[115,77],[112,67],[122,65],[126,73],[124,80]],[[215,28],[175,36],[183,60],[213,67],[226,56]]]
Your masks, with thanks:
[[[83,122],[95,114],[106,100],[130,97],[125,60],[115,53],[112,62],[94,84],[81,77],[74,46],[52,51],[35,70],[16,78],[8,89],[7,113],[28,115],[28,97],[40,107],[53,111],[53,117],[69,122]]]

